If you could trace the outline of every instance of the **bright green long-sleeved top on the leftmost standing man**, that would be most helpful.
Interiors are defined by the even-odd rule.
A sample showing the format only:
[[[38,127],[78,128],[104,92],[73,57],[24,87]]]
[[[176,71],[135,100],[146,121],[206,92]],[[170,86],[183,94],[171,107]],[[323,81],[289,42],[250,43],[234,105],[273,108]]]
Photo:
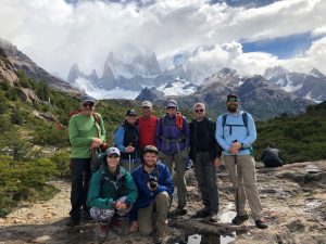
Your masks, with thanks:
[[[72,144],[72,158],[89,158],[91,157],[90,145],[93,138],[105,140],[105,129],[103,119],[98,114],[100,124],[96,121],[93,116],[85,116],[76,114],[70,119],[70,141]]]

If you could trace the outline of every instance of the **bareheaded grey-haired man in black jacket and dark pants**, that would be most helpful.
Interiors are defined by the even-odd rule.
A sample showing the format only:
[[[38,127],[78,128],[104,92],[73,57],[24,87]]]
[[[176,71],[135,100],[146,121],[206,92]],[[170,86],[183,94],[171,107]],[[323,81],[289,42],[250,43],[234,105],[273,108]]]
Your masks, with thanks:
[[[190,158],[193,162],[195,175],[204,207],[197,211],[197,217],[217,222],[218,192],[216,169],[221,166],[222,150],[216,142],[216,124],[206,117],[205,105],[193,105],[195,119],[190,127]]]

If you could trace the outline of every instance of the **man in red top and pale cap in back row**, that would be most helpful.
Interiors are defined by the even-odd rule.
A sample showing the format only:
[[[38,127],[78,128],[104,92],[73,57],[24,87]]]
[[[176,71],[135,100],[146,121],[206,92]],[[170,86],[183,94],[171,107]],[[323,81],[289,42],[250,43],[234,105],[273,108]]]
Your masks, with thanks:
[[[141,103],[141,116],[138,119],[139,149],[143,151],[147,145],[155,144],[155,130],[158,117],[153,115],[153,104],[150,101]]]

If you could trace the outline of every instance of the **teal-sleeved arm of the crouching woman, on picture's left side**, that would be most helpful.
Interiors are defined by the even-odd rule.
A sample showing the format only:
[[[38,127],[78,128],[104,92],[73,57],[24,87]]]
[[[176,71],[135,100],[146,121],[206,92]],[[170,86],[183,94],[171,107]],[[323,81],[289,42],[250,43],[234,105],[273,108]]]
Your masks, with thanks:
[[[101,192],[101,172],[100,170],[91,178],[89,193],[87,197],[87,205],[90,207],[114,209],[113,197],[102,198]]]

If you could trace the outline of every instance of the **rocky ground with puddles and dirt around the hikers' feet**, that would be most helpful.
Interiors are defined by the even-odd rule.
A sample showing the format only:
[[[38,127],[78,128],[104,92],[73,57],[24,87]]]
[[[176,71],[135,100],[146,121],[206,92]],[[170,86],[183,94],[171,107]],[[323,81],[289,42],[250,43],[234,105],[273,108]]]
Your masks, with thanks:
[[[220,221],[192,216],[201,207],[196,178],[187,172],[188,214],[170,220],[167,243],[189,244],[322,244],[326,243],[326,162],[286,165],[281,168],[258,167],[258,183],[267,230],[254,227],[253,220],[236,227],[233,188],[227,171],[218,172]],[[79,227],[66,228],[70,210],[70,183],[50,182],[61,192],[48,202],[21,203],[7,218],[0,218],[0,244],[25,243],[97,243],[96,223],[84,221]],[[174,203],[175,205],[175,203]],[[151,244],[151,237],[138,233],[117,236],[111,233],[108,244]]]

